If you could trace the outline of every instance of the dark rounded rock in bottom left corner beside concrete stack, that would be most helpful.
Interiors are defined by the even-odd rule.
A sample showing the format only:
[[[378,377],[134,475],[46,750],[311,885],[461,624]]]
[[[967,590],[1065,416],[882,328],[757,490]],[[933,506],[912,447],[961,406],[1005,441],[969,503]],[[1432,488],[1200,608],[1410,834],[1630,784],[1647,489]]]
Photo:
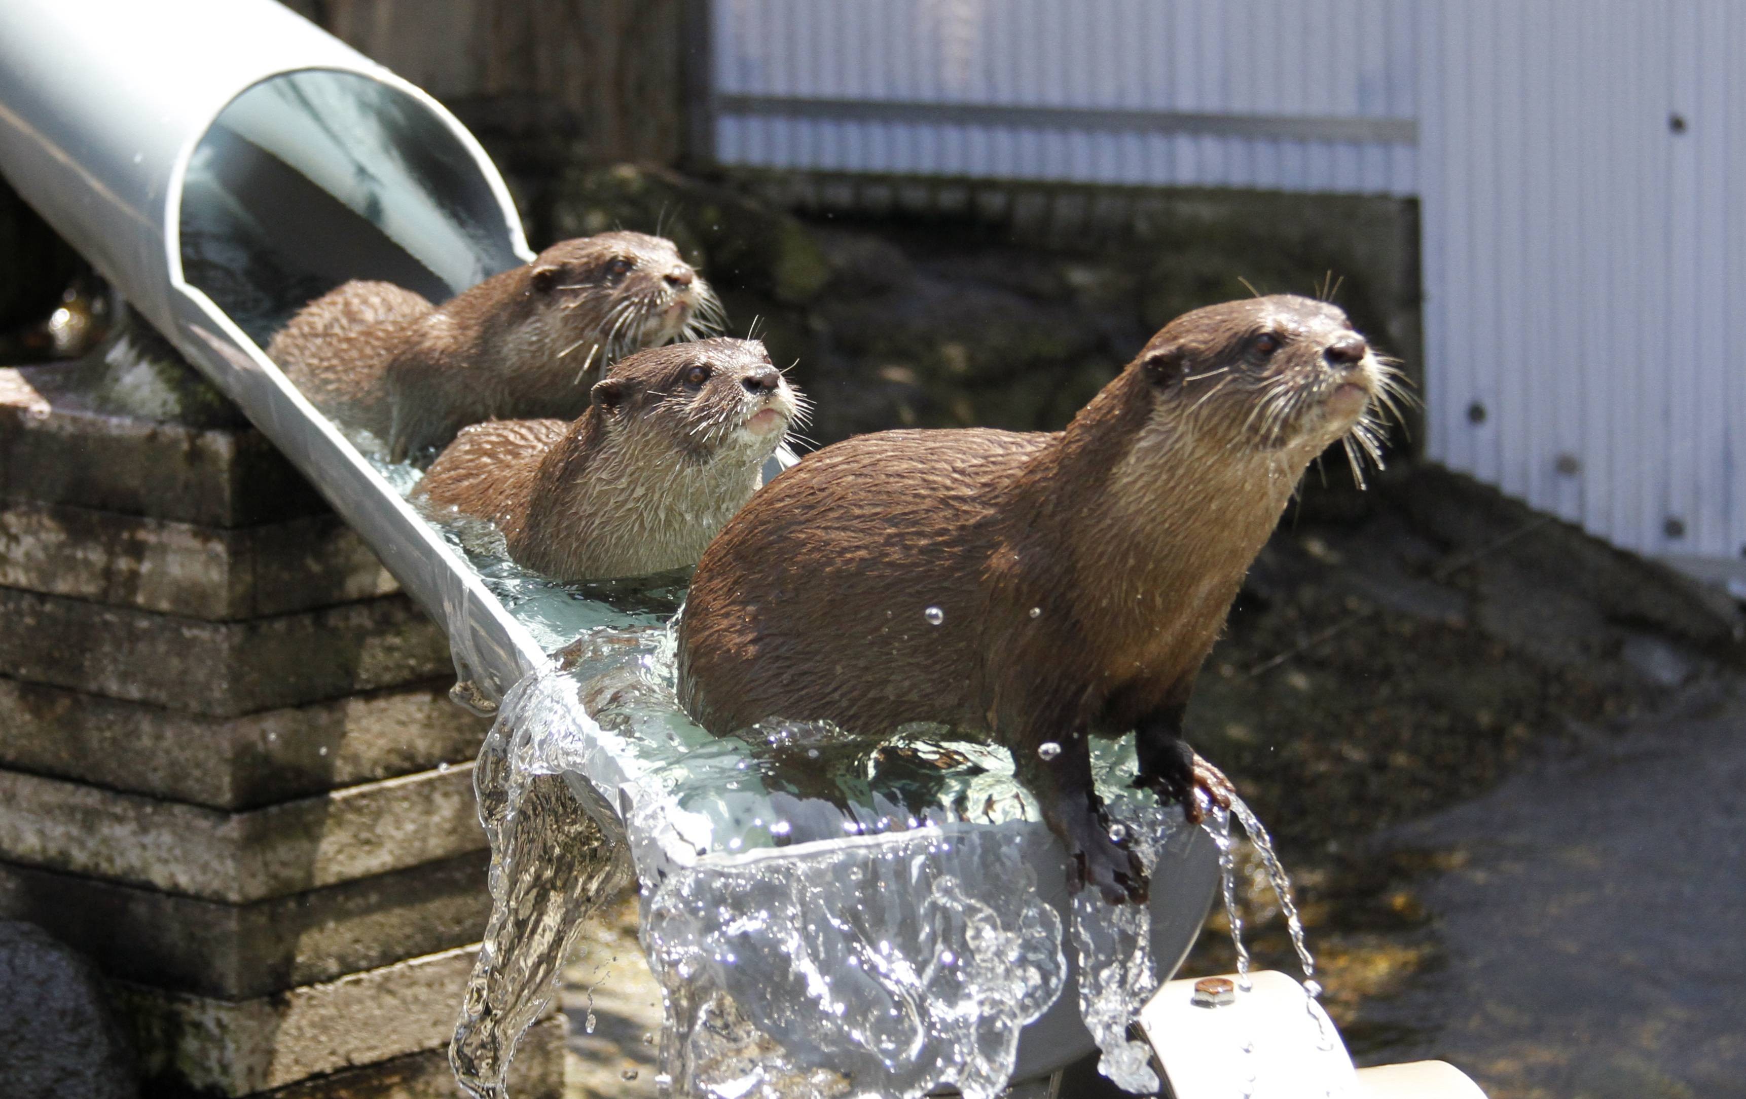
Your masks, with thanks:
[[[0,1076],[12,1099],[133,1099],[103,979],[42,928],[0,921]]]

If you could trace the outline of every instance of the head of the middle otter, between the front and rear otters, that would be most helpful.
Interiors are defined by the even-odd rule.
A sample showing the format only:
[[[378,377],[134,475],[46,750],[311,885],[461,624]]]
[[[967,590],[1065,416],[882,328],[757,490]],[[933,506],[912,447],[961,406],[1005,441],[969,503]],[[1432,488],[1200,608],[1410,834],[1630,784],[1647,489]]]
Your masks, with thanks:
[[[761,464],[807,415],[761,342],[721,337],[627,356],[590,399],[604,431],[660,433],[698,464]]]

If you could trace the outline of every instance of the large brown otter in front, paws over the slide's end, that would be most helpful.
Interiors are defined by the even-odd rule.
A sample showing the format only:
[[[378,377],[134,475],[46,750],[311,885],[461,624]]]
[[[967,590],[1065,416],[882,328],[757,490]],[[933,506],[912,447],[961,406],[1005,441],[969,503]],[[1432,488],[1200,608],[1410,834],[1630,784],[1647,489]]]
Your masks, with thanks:
[[[1088,734],[1137,731],[1140,783],[1227,802],[1182,713],[1243,574],[1308,462],[1357,434],[1388,368],[1322,302],[1210,305],[1165,326],[1062,433],[889,431],[772,481],[704,553],[679,696],[714,733],[780,717],[887,736],[946,722],[1006,745],[1074,888],[1142,898]]]

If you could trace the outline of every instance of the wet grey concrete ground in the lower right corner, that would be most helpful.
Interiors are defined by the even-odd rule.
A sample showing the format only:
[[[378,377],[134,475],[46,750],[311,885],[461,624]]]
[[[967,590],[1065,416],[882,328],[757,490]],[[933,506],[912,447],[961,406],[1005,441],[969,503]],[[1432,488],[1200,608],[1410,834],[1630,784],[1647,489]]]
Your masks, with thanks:
[[[1746,1094],[1746,696],[1645,719],[1392,829],[1440,963],[1369,1061],[1442,1057],[1493,1099]]]

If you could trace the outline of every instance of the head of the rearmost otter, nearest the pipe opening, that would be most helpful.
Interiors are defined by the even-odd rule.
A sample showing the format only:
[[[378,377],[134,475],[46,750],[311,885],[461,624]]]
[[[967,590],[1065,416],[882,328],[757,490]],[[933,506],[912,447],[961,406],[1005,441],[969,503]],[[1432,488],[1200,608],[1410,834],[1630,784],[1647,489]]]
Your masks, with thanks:
[[[602,232],[559,241],[527,269],[527,286],[560,309],[560,356],[588,352],[594,366],[721,326],[721,304],[665,237]]]

